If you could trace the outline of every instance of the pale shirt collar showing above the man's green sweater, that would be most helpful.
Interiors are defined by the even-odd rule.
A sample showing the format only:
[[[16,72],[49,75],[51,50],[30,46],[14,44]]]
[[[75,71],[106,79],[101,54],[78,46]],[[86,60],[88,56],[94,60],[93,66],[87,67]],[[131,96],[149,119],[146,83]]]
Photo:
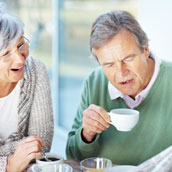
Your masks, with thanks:
[[[140,105],[140,103],[147,97],[150,89],[152,88],[158,74],[159,74],[159,70],[160,70],[160,65],[161,65],[161,60],[154,58],[155,61],[155,68],[154,68],[154,73],[153,76],[149,82],[149,84],[147,85],[147,87],[142,90],[139,94],[136,95],[135,100],[132,99],[130,96],[128,95],[124,95],[123,93],[121,93],[117,88],[115,88],[110,82],[108,83],[108,90],[109,90],[109,95],[111,100],[115,100],[118,97],[121,97],[122,99],[124,99],[125,103],[128,105],[128,107],[130,108],[135,108],[138,105]]]

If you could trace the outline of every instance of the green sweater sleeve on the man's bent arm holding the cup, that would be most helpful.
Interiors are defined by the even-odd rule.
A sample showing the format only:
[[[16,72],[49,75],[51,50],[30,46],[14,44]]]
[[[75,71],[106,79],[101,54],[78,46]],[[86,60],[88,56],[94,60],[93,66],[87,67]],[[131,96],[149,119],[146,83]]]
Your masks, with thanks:
[[[82,160],[90,156],[96,156],[99,150],[99,135],[91,143],[85,143],[81,137],[83,111],[89,106],[88,81],[84,82],[80,105],[74,119],[72,130],[68,134],[66,145],[67,159]]]

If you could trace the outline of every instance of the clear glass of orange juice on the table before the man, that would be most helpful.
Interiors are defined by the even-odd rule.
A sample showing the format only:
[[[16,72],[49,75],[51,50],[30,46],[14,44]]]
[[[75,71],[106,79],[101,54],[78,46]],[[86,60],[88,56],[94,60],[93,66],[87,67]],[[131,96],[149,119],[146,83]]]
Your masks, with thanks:
[[[84,172],[104,172],[105,168],[112,167],[112,161],[107,158],[87,158],[80,162],[81,170]]]

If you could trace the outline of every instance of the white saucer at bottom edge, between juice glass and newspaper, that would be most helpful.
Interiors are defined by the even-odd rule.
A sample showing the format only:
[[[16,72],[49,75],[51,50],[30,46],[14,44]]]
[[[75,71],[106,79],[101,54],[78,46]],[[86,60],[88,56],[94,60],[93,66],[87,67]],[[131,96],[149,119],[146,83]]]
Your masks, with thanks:
[[[112,168],[107,168],[105,171],[106,172],[129,172],[130,170],[133,170],[135,168],[136,166],[132,166],[132,165],[119,165]]]

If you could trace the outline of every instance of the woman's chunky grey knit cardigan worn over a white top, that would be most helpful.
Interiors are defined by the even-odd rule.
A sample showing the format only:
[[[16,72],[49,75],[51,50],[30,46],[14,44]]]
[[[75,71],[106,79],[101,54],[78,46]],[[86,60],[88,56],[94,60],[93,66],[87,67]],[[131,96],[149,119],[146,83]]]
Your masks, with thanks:
[[[28,57],[21,82],[18,129],[6,140],[0,138],[0,156],[14,153],[19,141],[31,135],[40,136],[45,143],[45,151],[50,150],[53,137],[53,111],[48,73],[43,63]]]

